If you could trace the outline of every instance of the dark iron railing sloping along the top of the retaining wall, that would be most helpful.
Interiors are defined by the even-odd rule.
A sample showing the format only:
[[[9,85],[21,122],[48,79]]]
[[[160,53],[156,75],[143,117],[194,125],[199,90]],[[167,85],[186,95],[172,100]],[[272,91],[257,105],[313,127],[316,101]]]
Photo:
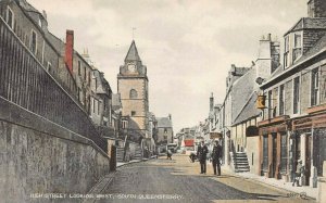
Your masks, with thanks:
[[[108,143],[87,113],[48,74],[1,16],[0,97],[91,139],[106,152]]]

